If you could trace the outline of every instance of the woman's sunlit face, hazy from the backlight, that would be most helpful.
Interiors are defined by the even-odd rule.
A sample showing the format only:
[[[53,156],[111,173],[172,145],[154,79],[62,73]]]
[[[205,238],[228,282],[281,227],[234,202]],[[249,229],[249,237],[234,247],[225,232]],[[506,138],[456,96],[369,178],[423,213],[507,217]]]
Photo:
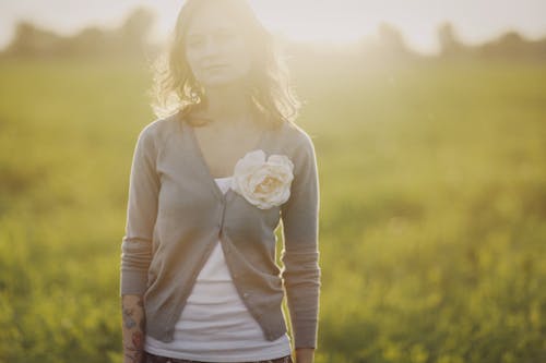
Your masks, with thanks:
[[[246,39],[222,7],[205,5],[195,12],[185,51],[193,76],[205,88],[240,82],[251,66]]]

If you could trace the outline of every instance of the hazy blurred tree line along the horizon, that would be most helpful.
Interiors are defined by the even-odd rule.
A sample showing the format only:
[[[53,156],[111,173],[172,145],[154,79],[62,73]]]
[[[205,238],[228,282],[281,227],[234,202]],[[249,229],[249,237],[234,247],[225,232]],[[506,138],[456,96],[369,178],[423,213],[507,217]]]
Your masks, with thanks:
[[[15,26],[12,41],[0,52],[1,57],[58,58],[58,57],[133,57],[153,53],[158,45],[149,40],[155,23],[154,13],[146,8],[136,8],[114,29],[97,26],[83,28],[73,36],[61,36],[51,31],[21,21]],[[353,46],[370,57],[394,60],[437,59],[507,59],[546,60],[546,37],[529,40],[515,31],[508,31],[497,38],[480,45],[466,45],[460,40],[451,23],[438,27],[437,37],[440,51],[436,56],[423,56],[413,51],[405,43],[403,34],[393,25],[382,23],[378,36]],[[285,39],[286,40],[286,39]],[[297,49],[297,48],[300,49]],[[296,52],[302,45],[287,45]]]

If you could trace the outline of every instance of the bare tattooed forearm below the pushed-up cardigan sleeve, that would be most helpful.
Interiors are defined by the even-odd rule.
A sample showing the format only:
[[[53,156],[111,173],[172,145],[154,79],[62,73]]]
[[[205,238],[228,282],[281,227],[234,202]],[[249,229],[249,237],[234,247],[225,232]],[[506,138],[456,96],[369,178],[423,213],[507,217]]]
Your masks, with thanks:
[[[142,363],[146,325],[142,297],[122,295],[121,310],[123,313],[123,363]]]

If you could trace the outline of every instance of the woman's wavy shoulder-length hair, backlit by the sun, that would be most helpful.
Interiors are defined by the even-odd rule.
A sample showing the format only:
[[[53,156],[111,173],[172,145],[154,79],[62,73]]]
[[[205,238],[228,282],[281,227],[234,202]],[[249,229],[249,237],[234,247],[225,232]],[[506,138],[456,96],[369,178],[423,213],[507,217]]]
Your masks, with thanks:
[[[289,83],[288,70],[273,36],[257,19],[246,0],[188,0],[180,9],[166,49],[153,64],[152,108],[158,117],[187,116],[206,105],[205,89],[195,82],[186,60],[186,34],[190,19],[205,5],[222,7],[242,29],[252,58],[246,93],[258,114],[273,125],[294,122],[300,102]]]

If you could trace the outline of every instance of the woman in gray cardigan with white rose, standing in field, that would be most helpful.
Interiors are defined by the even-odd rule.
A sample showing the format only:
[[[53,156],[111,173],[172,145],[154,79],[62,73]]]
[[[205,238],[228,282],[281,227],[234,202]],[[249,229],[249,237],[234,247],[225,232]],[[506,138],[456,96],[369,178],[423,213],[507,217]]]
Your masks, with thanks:
[[[312,362],[317,161],[271,36],[244,0],[189,0],[163,65],[131,167],[124,362]]]

